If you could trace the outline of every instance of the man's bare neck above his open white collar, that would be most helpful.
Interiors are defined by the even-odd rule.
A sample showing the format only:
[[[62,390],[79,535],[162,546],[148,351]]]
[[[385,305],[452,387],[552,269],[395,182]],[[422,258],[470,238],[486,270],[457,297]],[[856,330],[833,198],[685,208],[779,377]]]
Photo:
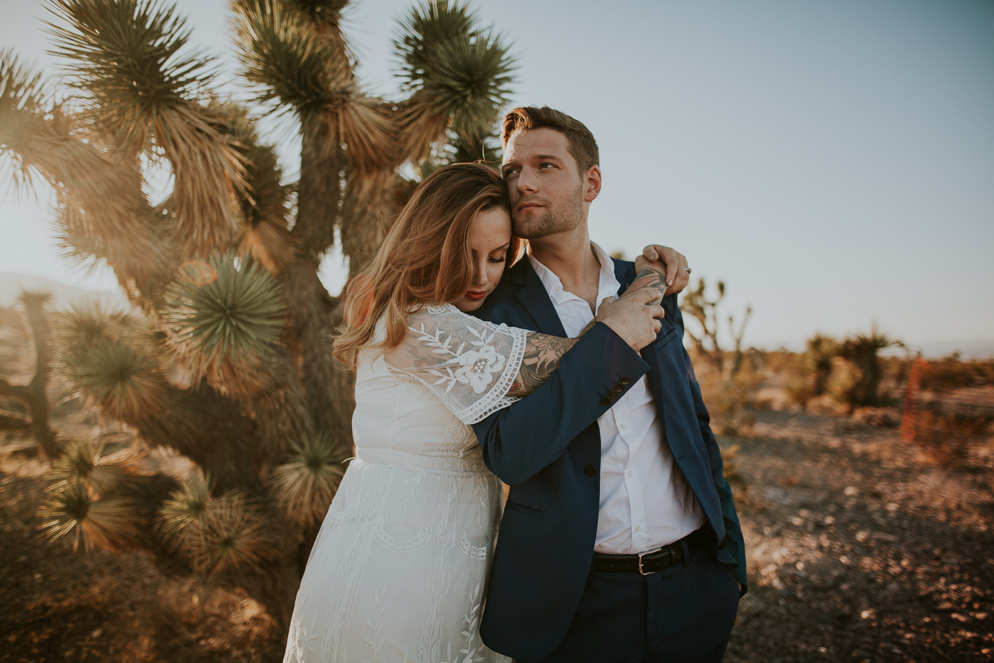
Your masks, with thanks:
[[[586,224],[575,231],[560,233],[532,240],[529,250],[563,282],[563,289],[572,292],[596,307],[597,287],[600,281],[600,262],[593,254]]]

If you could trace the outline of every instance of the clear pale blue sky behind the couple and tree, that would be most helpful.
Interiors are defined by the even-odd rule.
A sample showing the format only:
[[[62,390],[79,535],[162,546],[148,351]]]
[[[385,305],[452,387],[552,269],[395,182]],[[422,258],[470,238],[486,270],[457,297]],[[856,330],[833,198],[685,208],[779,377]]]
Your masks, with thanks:
[[[178,4],[234,80],[227,3]],[[912,344],[994,341],[994,2],[471,5],[514,44],[513,102],[564,110],[596,136],[592,239],[686,253],[695,277],[726,281],[726,314],[752,305],[746,343],[796,347],[874,321]],[[375,93],[397,93],[390,40],[410,6],[348,12]],[[41,4],[0,7],[0,47],[51,67]],[[294,127],[265,126],[292,174]],[[44,204],[3,193],[0,271],[112,287],[58,256]]]

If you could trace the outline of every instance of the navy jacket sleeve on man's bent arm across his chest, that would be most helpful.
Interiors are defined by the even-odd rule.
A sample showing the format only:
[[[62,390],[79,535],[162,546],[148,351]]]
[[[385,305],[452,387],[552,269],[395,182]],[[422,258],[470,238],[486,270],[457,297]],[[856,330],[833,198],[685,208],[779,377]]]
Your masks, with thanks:
[[[615,401],[602,399],[623,377],[634,382],[648,370],[649,365],[620,336],[597,323],[563,356],[549,382],[473,424],[483,461],[509,485],[527,481],[614,405]]]

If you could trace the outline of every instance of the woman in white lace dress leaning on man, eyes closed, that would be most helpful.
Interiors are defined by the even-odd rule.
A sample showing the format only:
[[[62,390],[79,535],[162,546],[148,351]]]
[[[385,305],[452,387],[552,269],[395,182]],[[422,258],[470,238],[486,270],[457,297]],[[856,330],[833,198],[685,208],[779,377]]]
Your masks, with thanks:
[[[509,392],[537,341],[548,349],[529,354],[530,389],[577,340],[466,315],[518,252],[509,209],[490,168],[439,169],[350,288],[335,356],[356,371],[356,458],[314,543],[284,661],[509,660],[478,634],[501,487],[468,424],[527,395]],[[661,294],[605,302],[590,326],[658,325],[662,307],[645,304]]]

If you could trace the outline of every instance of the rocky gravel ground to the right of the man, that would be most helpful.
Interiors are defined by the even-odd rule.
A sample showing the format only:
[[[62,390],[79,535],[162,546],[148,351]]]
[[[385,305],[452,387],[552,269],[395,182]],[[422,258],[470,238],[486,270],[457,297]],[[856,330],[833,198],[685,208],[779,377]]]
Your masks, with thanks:
[[[942,468],[896,428],[757,418],[722,440],[750,579],[725,660],[989,660],[994,447]]]

